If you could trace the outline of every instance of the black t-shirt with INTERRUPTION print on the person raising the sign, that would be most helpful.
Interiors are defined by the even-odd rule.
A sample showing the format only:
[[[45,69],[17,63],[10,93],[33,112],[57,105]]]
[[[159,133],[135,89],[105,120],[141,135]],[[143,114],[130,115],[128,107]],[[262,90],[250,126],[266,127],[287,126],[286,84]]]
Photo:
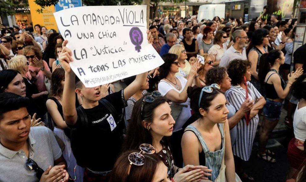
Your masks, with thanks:
[[[118,114],[121,114],[126,106],[123,90],[110,94],[104,99],[114,106]],[[75,128],[76,135],[82,136],[83,141],[86,141],[85,167],[96,172],[111,171],[122,145],[121,132],[116,124],[118,121],[114,122],[114,116],[111,117],[111,112],[101,103],[84,110],[88,118],[88,127],[82,126],[78,113],[78,120],[72,129]]]

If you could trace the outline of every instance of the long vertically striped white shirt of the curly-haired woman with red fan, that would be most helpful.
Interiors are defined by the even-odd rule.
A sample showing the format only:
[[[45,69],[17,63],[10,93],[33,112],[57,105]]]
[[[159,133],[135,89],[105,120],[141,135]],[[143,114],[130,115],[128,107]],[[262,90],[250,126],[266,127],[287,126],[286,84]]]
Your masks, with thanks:
[[[249,90],[249,98],[251,100],[253,99],[253,103],[255,103],[255,100],[259,99],[261,94],[256,90],[252,83],[247,82],[247,86]],[[225,96],[228,102],[235,107],[236,111],[238,111],[242,103],[245,101],[245,90],[240,85],[232,85],[232,88],[226,91]],[[247,161],[251,156],[258,121],[259,117],[257,114],[250,120],[249,125],[246,125],[245,117],[240,119],[236,125],[238,135],[235,144],[233,145],[233,154],[240,157],[242,160]]]

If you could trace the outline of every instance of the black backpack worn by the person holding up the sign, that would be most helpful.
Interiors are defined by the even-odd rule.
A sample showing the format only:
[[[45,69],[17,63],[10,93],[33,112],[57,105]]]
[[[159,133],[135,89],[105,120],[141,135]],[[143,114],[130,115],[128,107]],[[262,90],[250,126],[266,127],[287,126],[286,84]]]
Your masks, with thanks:
[[[106,99],[101,99],[99,100],[99,103],[103,104],[105,108],[108,109],[108,111],[111,112],[111,114],[114,117],[114,120],[117,124],[117,127],[119,127],[119,131],[122,132],[123,128],[122,126],[125,127],[125,124],[123,121],[123,115],[119,115],[118,112],[116,111],[115,107],[113,104],[111,104],[108,100]],[[80,117],[80,121],[82,123],[82,126],[88,127],[88,118],[87,114],[82,106],[79,106],[76,108],[78,116]],[[123,133],[120,133],[121,136]],[[74,154],[74,157],[77,161],[77,164],[82,167],[86,167],[86,159],[84,156],[87,155],[88,148],[87,144],[88,142],[84,140],[84,135],[87,135],[86,133],[80,133],[76,132],[74,129],[70,130],[70,143],[71,143],[71,149]],[[123,138],[121,138],[123,140]]]

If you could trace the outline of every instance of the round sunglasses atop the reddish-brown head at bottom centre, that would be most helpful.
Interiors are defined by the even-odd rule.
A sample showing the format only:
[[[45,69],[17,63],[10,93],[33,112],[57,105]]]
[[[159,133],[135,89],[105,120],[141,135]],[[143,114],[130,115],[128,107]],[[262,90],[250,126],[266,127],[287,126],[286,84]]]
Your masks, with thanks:
[[[141,144],[139,146],[139,148],[141,150],[139,153],[137,153],[137,152],[130,153],[130,155],[128,157],[129,161],[130,161],[128,175],[130,175],[130,170],[131,170],[132,164],[134,164],[136,166],[142,166],[144,164],[145,157],[141,154],[142,152],[146,153],[146,154],[154,154],[155,153],[155,148],[150,144]]]

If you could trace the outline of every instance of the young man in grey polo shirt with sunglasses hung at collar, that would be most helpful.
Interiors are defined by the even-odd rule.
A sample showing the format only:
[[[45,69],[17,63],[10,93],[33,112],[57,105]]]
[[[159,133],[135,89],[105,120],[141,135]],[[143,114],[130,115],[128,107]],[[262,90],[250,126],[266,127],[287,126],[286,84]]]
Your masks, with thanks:
[[[30,127],[28,104],[26,97],[0,93],[0,181],[68,181],[61,148],[49,128]]]

